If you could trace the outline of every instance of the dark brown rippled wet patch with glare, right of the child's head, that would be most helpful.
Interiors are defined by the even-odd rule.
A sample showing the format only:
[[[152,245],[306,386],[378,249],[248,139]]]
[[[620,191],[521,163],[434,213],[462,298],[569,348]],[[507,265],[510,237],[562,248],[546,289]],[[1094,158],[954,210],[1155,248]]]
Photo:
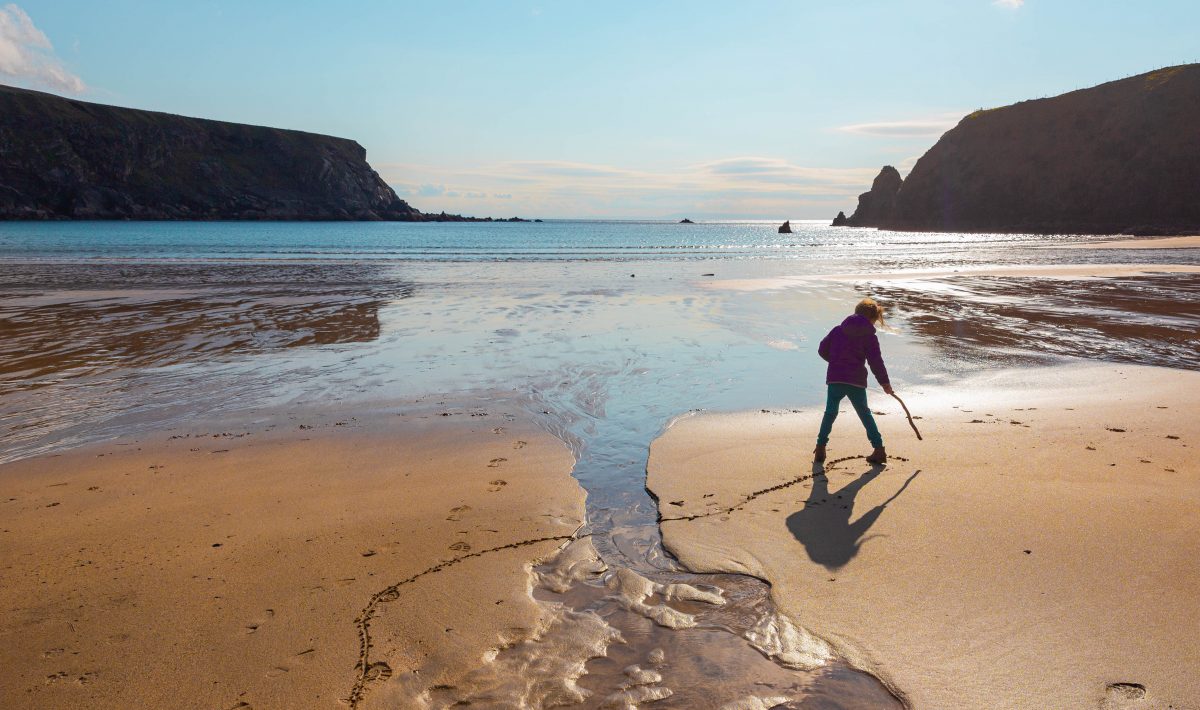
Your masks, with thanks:
[[[1200,369],[1200,275],[954,277],[872,284],[907,330],[953,359],[1033,354]],[[1020,353],[1020,355],[1015,355]]]

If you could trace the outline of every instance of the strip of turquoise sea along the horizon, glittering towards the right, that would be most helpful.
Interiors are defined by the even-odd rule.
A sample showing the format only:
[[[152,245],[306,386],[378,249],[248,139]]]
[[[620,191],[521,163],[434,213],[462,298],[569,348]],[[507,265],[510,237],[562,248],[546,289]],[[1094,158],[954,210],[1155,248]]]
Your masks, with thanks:
[[[946,235],[793,222],[25,222],[0,223],[5,259],[797,259],[822,252],[916,254],[964,245],[1036,243],[1027,235]],[[1067,237],[1070,239],[1070,237]]]

